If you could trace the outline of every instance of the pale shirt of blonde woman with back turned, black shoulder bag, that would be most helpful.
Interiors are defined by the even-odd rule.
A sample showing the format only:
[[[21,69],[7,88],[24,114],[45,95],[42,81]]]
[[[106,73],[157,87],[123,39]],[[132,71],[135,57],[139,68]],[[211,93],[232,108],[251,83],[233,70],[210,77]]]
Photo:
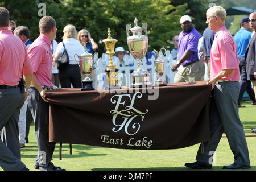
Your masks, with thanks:
[[[68,39],[63,39],[63,43],[65,44],[65,48],[68,52],[68,57],[69,57],[69,64],[78,64],[79,60],[78,57],[76,56],[76,60],[74,56],[77,55],[82,55],[84,53],[84,46],[80,44],[80,42],[77,39],[74,38],[68,38]],[[60,42],[57,46],[56,53],[63,53],[64,47],[62,42]]]

